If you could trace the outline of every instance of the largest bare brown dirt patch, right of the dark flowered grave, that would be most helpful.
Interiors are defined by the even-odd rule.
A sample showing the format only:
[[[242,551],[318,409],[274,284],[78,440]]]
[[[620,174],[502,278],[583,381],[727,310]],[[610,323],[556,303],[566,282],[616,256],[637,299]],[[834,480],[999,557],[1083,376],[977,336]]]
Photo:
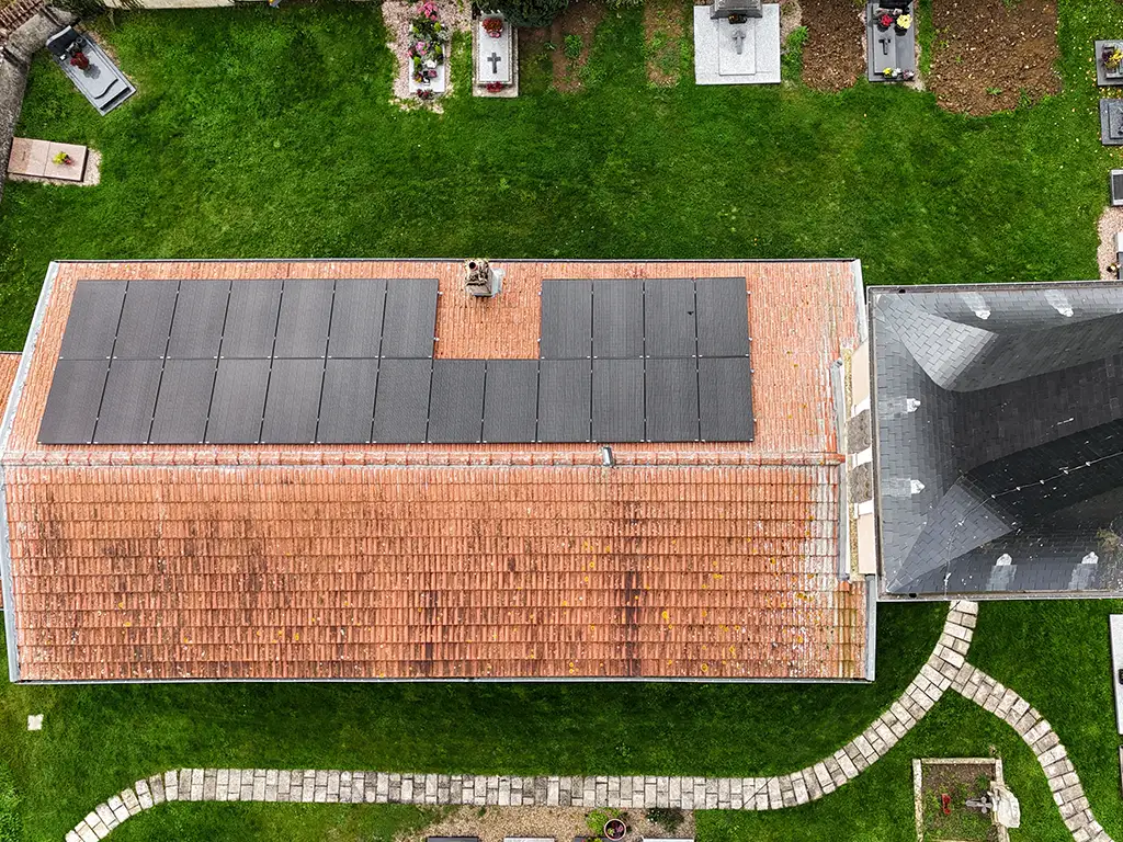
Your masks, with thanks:
[[[929,90],[943,108],[980,116],[1060,91],[1056,0],[932,3]]]

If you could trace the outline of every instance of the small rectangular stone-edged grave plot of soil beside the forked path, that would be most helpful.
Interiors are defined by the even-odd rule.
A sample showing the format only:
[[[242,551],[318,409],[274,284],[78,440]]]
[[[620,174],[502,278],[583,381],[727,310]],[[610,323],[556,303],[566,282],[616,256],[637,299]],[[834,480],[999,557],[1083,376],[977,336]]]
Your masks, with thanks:
[[[947,758],[913,760],[917,842],[1008,842],[992,812],[966,806],[1002,782],[1002,760]]]

